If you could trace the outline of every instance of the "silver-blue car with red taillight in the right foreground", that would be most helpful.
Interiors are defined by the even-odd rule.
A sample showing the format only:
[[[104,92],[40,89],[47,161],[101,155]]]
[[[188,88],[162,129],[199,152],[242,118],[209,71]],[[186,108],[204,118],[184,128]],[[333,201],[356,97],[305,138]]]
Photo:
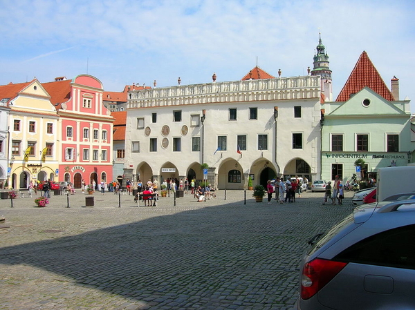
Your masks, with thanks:
[[[415,309],[415,200],[358,206],[309,243],[295,309]]]

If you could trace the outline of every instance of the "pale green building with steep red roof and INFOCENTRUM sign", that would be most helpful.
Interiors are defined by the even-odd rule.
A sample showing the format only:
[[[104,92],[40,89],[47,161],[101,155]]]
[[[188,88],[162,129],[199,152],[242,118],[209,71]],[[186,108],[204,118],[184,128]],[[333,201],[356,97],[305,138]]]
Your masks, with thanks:
[[[322,105],[324,180],[339,175],[346,182],[353,174],[367,180],[376,178],[379,168],[407,166],[411,161],[414,141],[409,100],[399,100],[397,82],[394,77],[389,90],[362,52],[336,101]]]

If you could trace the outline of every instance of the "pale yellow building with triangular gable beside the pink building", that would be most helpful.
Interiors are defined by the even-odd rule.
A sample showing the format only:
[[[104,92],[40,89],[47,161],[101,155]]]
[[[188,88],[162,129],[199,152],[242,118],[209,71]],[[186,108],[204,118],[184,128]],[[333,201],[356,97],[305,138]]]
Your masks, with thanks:
[[[10,107],[8,186],[28,188],[30,181],[57,181],[59,116],[42,84],[33,81],[0,86]]]

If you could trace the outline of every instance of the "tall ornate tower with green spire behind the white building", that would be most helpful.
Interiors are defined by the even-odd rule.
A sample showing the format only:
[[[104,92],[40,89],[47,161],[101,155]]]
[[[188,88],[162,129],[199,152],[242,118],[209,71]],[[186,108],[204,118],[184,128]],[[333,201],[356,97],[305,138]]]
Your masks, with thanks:
[[[331,88],[331,70],[329,68],[329,55],[325,52],[325,47],[322,43],[322,37],[319,33],[319,41],[317,45],[317,52],[314,54],[313,70],[311,75],[320,75],[321,89],[326,100],[333,100],[333,90]]]

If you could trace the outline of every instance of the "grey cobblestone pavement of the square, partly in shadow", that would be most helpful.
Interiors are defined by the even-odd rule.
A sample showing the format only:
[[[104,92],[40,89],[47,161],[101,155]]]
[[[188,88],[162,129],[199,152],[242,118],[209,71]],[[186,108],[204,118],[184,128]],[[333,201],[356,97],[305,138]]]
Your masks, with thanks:
[[[353,209],[352,193],[342,206],[322,206],[324,193],[216,195],[0,200],[0,309],[291,309],[306,242]]]

